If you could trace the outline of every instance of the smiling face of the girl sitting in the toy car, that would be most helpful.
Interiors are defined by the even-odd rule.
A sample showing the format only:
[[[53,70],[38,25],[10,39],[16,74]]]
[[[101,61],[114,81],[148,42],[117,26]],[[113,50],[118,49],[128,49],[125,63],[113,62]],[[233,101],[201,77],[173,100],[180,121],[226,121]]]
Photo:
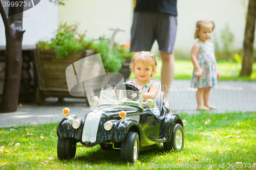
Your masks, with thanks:
[[[144,65],[145,64],[145,65]],[[150,79],[151,74],[155,71],[156,68],[153,68],[150,63],[144,63],[139,60],[133,65],[134,74],[137,79],[140,81],[147,81]]]

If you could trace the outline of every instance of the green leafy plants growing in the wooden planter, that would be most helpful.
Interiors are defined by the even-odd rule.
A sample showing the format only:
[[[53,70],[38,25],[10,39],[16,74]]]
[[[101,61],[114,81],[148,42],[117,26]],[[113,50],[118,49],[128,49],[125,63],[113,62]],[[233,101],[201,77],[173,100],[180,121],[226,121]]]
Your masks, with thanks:
[[[126,58],[132,58],[130,48],[125,45],[114,44],[110,50],[110,42],[100,38],[99,41],[86,40],[86,32],[78,33],[78,24],[68,25],[60,22],[56,36],[50,41],[38,41],[38,48],[54,50],[56,58],[65,59],[72,52],[93,49],[100,53],[106,72],[118,72]]]

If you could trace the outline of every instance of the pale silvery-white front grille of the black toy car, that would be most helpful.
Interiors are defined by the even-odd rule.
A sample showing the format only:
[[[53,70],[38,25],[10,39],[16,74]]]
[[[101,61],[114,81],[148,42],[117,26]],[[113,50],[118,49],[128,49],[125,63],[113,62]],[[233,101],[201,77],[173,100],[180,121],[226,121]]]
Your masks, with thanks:
[[[83,142],[90,141],[93,143],[96,141],[100,117],[101,113],[90,112],[87,114],[82,131]]]

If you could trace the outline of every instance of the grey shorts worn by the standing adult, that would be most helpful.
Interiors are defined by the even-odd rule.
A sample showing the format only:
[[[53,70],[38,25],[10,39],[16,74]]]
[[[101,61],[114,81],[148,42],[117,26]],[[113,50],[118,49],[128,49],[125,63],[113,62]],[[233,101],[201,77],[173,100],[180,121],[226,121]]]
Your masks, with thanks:
[[[174,53],[176,31],[177,16],[160,12],[134,12],[130,51],[151,51],[156,39],[160,51]]]

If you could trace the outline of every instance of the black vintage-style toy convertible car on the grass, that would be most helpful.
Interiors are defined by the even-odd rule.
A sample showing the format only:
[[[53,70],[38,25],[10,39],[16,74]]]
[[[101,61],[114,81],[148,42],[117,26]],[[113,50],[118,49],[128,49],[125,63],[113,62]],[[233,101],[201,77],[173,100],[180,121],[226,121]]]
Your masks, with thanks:
[[[132,163],[137,161],[139,151],[154,149],[156,143],[163,142],[165,151],[183,149],[186,120],[169,110],[169,103],[163,102],[163,92],[157,96],[159,117],[150,111],[153,100],[143,102],[143,92],[139,94],[131,84],[122,83],[115,90],[102,89],[92,102],[98,107],[84,118],[69,115],[69,109],[63,109],[66,118],[57,128],[59,159],[72,159],[76,147],[96,144],[102,150],[120,150],[121,160]]]

